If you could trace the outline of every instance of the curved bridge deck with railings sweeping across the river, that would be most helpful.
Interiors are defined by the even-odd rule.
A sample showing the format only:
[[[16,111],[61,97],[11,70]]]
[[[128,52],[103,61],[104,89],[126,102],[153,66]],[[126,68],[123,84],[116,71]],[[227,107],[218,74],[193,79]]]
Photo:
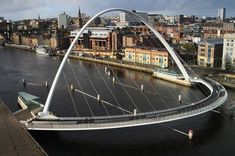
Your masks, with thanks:
[[[134,115],[120,115],[112,117],[55,117],[55,118],[34,118],[25,124],[29,130],[50,130],[50,131],[73,131],[73,130],[98,130],[134,127],[164,123],[180,120],[211,111],[222,105],[227,99],[227,92],[217,82],[204,79],[194,80],[205,85],[211,94],[206,99],[178,108],[166,109],[155,112],[139,113]]]

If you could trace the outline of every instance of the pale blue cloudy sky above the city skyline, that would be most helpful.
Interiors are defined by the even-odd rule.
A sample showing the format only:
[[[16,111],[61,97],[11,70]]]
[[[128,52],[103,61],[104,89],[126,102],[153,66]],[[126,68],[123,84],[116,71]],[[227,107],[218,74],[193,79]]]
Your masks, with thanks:
[[[0,0],[0,17],[19,20],[57,17],[61,12],[76,16],[78,7],[88,15],[103,9],[119,7],[166,15],[186,14],[217,16],[217,8],[225,7],[228,17],[235,16],[235,0]]]

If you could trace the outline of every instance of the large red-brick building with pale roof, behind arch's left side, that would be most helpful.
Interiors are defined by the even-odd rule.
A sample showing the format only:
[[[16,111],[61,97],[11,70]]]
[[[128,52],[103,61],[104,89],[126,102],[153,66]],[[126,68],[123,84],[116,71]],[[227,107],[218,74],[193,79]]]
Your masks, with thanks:
[[[70,32],[70,42],[73,41],[79,30]],[[75,51],[88,52],[93,55],[112,56],[114,51],[120,50],[121,33],[112,28],[88,27],[83,31],[74,46]]]

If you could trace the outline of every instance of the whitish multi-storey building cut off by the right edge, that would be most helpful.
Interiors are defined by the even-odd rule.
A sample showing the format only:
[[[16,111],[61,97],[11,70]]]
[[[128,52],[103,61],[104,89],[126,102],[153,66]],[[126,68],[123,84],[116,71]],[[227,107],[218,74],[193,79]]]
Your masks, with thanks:
[[[235,34],[224,35],[222,69],[235,67]]]

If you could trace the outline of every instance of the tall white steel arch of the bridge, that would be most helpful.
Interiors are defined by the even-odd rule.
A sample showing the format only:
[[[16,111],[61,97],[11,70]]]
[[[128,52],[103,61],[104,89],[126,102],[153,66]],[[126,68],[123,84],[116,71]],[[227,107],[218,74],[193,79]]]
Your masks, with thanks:
[[[172,50],[172,48],[170,47],[170,45],[166,42],[166,40],[161,36],[161,34],[159,32],[157,32],[144,18],[142,18],[140,15],[132,12],[132,11],[128,11],[125,9],[121,9],[121,8],[110,8],[104,11],[99,12],[98,14],[96,14],[95,16],[93,16],[82,28],[81,30],[77,33],[76,37],[74,38],[72,44],[70,45],[69,49],[67,50],[61,64],[60,67],[55,75],[54,81],[52,83],[51,89],[49,91],[49,94],[47,96],[47,100],[45,103],[45,106],[43,108],[43,111],[39,113],[40,117],[49,117],[49,107],[50,107],[50,103],[52,100],[52,97],[54,95],[54,91],[55,91],[55,87],[57,85],[57,82],[59,80],[59,77],[61,75],[61,72],[64,68],[64,65],[66,63],[67,58],[69,57],[69,54],[71,53],[74,44],[76,43],[76,41],[78,40],[79,36],[82,34],[82,32],[87,28],[87,26],[89,26],[89,24],[97,17],[101,16],[102,14],[105,14],[107,12],[112,12],[112,11],[123,11],[126,13],[129,13],[131,15],[134,15],[135,17],[137,17],[141,22],[143,22],[158,38],[159,40],[162,42],[162,44],[165,46],[165,48],[168,50],[168,52],[170,53],[171,57],[174,59],[174,61],[176,62],[178,68],[180,69],[181,73],[183,74],[184,78],[186,81],[190,80],[190,76],[187,73],[187,71],[185,70],[184,66],[182,65],[182,63],[180,62],[179,58],[177,57],[177,55],[175,54],[175,52]]]

